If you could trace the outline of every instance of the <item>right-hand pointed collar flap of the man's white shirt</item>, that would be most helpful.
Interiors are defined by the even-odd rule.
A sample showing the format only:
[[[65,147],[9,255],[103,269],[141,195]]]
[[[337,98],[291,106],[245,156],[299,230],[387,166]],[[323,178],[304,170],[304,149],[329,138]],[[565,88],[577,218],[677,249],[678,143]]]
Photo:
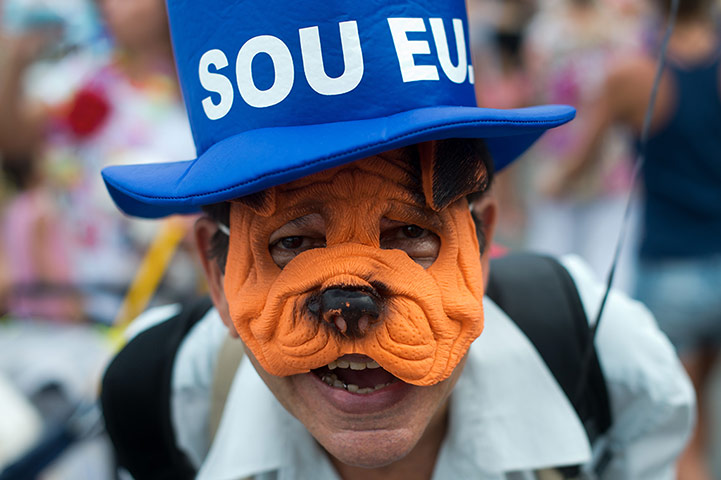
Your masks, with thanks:
[[[588,462],[586,431],[533,344],[488,297],[483,307],[484,331],[451,397],[441,455],[452,458],[440,467],[463,458],[495,472]]]

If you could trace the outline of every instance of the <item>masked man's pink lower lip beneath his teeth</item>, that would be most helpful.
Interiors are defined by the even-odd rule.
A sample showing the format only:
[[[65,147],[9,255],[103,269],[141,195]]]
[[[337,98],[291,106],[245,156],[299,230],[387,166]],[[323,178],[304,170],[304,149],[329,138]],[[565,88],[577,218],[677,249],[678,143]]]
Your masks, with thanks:
[[[343,388],[331,387],[314,373],[306,374],[312,387],[329,404],[345,413],[375,413],[401,402],[413,385],[400,380],[372,393],[351,393]]]

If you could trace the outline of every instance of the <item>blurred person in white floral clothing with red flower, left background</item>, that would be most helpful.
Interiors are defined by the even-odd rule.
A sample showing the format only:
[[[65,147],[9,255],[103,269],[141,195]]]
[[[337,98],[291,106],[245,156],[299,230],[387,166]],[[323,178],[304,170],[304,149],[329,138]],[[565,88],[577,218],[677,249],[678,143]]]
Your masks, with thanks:
[[[5,1],[10,5],[12,0]],[[36,12],[32,18],[49,16],[37,13],[43,12],[38,2],[15,3]],[[46,69],[34,91],[24,88],[24,78],[32,77],[35,60],[58,41],[64,24],[34,20],[25,32],[5,32],[0,153],[32,159],[44,173],[43,188],[68,238],[71,284],[83,292],[86,316],[109,323],[157,227],[119,215],[99,172],[109,163],[192,158],[195,149],[175,78],[163,0],[95,3],[112,38],[111,54],[83,63],[82,74],[72,68],[73,59],[64,60],[71,67]],[[69,91],[52,102],[36,101],[43,90],[63,84],[73,87],[65,87]],[[173,287],[196,288],[192,260],[186,256],[178,262]]]

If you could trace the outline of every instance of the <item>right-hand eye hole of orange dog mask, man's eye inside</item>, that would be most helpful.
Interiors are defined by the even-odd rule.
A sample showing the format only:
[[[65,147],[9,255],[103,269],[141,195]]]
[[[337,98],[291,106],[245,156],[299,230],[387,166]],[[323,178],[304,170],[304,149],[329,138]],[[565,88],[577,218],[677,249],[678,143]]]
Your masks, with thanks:
[[[414,262],[428,268],[438,257],[441,239],[418,225],[384,218],[381,220],[380,245],[384,250],[402,250]]]

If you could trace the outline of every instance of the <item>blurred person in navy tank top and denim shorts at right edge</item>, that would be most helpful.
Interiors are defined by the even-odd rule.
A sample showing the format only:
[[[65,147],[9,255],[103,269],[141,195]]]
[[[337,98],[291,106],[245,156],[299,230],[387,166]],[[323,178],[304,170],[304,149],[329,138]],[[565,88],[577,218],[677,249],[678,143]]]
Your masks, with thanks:
[[[593,153],[611,126],[641,133],[670,5],[654,3],[662,18],[653,42],[609,71],[582,143],[553,182],[558,195],[596,166]],[[712,0],[679,5],[645,148],[636,295],[676,346],[698,393],[698,426],[680,478],[706,480],[704,400],[721,344],[721,37]]]

